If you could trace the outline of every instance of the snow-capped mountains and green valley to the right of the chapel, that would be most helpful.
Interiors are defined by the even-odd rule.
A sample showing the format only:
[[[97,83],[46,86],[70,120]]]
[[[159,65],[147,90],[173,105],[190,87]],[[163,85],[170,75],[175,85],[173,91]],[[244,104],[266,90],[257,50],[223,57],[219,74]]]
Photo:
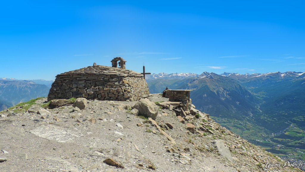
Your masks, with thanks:
[[[153,76],[148,80],[151,93],[166,87],[192,89],[196,108],[232,132],[278,155],[304,155],[299,152],[305,152],[304,72]]]

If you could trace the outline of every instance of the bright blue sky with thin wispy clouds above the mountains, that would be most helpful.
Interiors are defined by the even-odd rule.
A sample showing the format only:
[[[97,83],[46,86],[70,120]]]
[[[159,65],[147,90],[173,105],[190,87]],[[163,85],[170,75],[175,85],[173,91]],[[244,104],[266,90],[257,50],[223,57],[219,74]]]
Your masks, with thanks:
[[[302,1],[6,1],[0,77],[92,65],[151,73],[305,71]]]

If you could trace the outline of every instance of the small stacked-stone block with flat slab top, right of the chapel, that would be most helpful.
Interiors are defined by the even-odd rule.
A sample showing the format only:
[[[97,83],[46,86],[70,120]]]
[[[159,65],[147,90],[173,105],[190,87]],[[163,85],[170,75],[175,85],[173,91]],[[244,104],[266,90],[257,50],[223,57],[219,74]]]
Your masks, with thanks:
[[[190,91],[192,90],[167,90],[166,95],[169,101],[181,101],[183,110],[189,110],[192,106],[192,99],[190,99]]]

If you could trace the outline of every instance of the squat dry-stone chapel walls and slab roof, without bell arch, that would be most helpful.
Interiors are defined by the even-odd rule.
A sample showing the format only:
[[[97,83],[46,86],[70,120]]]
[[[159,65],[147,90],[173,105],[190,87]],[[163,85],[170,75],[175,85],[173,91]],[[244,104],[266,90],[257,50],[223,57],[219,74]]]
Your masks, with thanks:
[[[94,65],[57,75],[48,94],[48,100],[84,97],[135,101],[147,95],[148,85],[140,73]]]

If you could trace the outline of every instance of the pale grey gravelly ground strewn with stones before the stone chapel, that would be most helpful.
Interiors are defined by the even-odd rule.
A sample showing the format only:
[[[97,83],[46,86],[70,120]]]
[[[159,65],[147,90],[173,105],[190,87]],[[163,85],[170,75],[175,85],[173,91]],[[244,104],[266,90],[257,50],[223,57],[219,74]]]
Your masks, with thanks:
[[[153,94],[149,99],[152,102],[168,100],[160,94]],[[44,101],[46,99],[38,100],[37,105]],[[133,106],[135,103],[91,100],[81,111],[72,112],[71,105],[48,109],[52,115],[45,119],[34,113],[23,112],[9,117],[5,113],[5,117],[0,118],[0,150],[5,150],[5,153],[0,151],[0,157],[7,161],[0,163],[0,172],[262,171],[254,162],[245,165],[254,161],[250,158],[245,162],[243,159],[249,159],[245,155],[232,155],[236,163],[231,163],[212,148],[211,142],[218,139],[218,135],[199,137],[192,134],[185,124],[177,120],[173,111],[163,109],[156,122],[173,126],[173,129],[164,130],[177,142],[177,145],[170,144],[147,120],[122,109],[124,105]],[[89,119],[95,119],[95,123]],[[211,121],[211,126],[219,126],[214,123]],[[223,135],[226,140],[231,137]],[[246,141],[242,140],[240,144],[242,142]],[[199,150],[206,147],[209,150]],[[168,148],[178,150],[181,155],[173,156]],[[124,168],[109,166],[103,162],[107,158],[121,163]]]

